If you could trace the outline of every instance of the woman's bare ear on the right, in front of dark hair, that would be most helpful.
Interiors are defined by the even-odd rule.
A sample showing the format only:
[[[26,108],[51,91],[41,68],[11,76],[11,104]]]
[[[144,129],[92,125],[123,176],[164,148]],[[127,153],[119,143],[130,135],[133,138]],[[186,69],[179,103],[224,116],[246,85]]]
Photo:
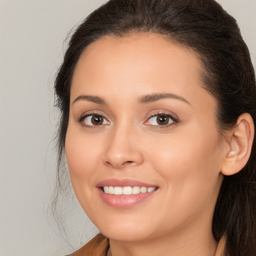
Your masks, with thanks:
[[[240,171],[247,163],[254,136],[254,124],[250,114],[241,114],[235,127],[227,134],[228,150],[221,165],[221,173],[232,175]]]

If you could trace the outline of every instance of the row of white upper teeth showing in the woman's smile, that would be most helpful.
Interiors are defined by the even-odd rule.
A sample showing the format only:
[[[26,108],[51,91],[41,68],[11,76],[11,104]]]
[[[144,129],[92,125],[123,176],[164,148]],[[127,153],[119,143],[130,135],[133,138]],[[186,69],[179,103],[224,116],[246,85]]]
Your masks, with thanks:
[[[139,194],[139,193],[147,193],[152,192],[156,187],[146,187],[146,186],[103,186],[104,193],[106,194]]]

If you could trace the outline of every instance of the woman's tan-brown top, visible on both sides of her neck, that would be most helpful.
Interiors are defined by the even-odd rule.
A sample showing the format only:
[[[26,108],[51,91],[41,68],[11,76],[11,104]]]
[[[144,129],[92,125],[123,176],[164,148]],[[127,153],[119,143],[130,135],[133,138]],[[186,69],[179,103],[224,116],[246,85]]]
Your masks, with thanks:
[[[217,245],[215,256],[224,256],[225,237]],[[101,233],[97,234],[85,245],[67,256],[111,256],[108,239]]]

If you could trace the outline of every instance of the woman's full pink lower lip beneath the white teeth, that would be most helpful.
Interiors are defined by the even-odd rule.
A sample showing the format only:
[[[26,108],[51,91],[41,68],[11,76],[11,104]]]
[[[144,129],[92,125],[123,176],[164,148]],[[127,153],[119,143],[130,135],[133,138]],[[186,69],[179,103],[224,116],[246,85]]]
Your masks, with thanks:
[[[147,198],[151,197],[157,189],[151,192],[129,194],[129,195],[114,195],[104,193],[101,188],[98,188],[100,198],[108,205],[115,208],[129,208],[132,207]]]

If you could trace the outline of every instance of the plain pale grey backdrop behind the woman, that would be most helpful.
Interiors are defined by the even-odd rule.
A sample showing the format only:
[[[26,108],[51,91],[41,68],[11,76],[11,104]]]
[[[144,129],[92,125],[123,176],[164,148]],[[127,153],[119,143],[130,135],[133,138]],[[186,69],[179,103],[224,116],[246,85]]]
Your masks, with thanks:
[[[103,0],[0,0],[0,256],[61,256],[97,229],[74,200],[69,238],[47,220],[55,175],[54,74],[67,32]],[[219,0],[256,62],[256,0]],[[73,246],[71,246],[71,245]]]

